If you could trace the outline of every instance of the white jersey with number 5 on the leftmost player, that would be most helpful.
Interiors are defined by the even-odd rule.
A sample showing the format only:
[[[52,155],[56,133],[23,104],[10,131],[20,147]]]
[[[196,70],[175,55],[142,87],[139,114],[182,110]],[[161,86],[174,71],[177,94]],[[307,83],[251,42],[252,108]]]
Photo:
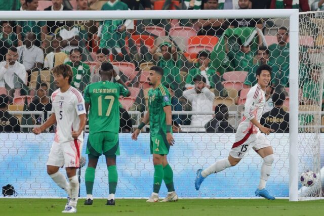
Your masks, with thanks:
[[[79,115],[86,114],[85,100],[82,94],[70,87],[69,90],[62,93],[61,89],[52,94],[52,111],[56,116],[56,132],[54,141],[63,143],[74,140],[72,131],[77,131],[80,124]],[[78,137],[83,142],[83,132]]]

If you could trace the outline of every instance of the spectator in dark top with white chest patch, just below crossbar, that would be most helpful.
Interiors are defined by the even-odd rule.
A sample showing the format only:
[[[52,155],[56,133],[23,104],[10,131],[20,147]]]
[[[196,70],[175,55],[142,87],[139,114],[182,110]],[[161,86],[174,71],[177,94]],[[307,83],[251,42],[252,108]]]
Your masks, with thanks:
[[[62,37],[61,47],[62,51],[69,53],[76,48],[85,48],[86,39],[88,38],[86,29],[84,26],[75,25],[74,21],[68,20],[60,28],[57,28],[55,35]]]

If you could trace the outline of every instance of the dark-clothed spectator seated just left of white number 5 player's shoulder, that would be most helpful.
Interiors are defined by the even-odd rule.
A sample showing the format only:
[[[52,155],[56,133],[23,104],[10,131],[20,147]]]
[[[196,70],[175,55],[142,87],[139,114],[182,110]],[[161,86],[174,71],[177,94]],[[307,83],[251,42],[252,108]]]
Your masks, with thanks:
[[[47,96],[48,85],[46,82],[42,82],[39,89],[36,90],[36,96],[29,104],[29,111],[44,111],[44,119],[41,115],[35,115],[34,120],[36,124],[42,124],[47,120],[48,112],[52,110],[52,103]],[[43,120],[43,121],[42,121]]]

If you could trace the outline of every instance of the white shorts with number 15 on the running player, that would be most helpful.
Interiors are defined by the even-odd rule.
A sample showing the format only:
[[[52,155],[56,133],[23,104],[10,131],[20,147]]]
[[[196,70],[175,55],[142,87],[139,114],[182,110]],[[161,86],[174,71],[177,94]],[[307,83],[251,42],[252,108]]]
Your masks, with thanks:
[[[268,146],[270,146],[269,140],[260,131],[257,134],[236,133],[235,143],[229,154],[234,158],[243,158],[251,148],[257,152],[259,149]]]

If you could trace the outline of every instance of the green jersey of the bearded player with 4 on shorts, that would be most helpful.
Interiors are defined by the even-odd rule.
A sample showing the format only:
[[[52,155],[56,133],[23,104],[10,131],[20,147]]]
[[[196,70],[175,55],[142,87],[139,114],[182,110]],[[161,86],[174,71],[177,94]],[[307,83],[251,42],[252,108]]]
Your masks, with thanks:
[[[168,89],[160,84],[148,91],[148,108],[150,112],[150,135],[167,133],[165,106],[171,106],[171,95]]]

